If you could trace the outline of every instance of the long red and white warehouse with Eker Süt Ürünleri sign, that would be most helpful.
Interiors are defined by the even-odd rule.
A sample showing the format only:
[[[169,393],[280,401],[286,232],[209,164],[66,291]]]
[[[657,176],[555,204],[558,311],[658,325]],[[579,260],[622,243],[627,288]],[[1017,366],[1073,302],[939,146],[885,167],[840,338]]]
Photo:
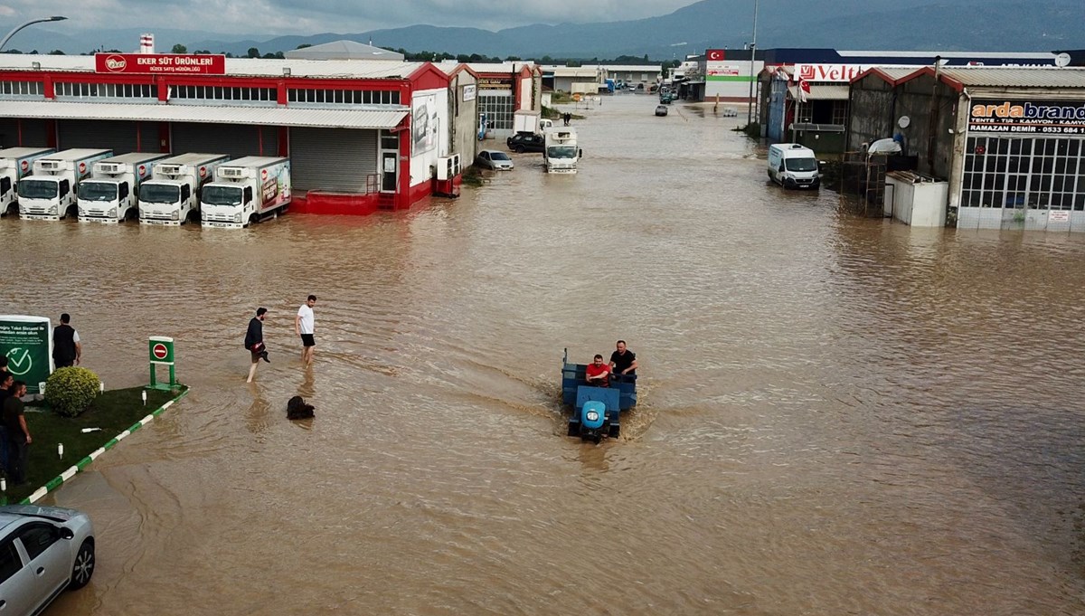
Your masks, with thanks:
[[[0,145],[288,156],[294,210],[368,214],[431,194],[448,98],[430,63],[3,54]]]

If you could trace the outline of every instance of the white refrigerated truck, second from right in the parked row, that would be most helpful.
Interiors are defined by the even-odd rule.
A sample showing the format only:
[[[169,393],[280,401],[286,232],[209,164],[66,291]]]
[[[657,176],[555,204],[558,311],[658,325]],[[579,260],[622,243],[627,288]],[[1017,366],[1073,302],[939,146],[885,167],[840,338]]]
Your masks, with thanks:
[[[183,224],[200,209],[203,187],[215,179],[215,169],[229,161],[226,154],[178,154],[155,162],[151,179],[139,188],[141,224]]]

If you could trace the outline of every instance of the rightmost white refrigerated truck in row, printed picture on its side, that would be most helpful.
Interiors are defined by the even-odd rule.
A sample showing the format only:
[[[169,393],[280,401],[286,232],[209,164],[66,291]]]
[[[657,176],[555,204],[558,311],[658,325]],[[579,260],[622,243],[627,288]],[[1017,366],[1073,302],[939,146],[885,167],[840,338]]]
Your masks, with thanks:
[[[290,198],[290,158],[245,156],[215,169],[215,181],[200,197],[200,215],[204,227],[241,229],[278,216]]]

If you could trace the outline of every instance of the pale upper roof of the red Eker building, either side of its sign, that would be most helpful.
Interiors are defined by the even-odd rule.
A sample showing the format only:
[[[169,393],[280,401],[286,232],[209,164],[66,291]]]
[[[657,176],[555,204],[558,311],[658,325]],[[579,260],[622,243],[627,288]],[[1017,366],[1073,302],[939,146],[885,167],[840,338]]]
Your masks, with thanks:
[[[34,67],[37,62],[40,66]],[[421,68],[422,62],[391,60],[264,60],[227,57],[227,76],[282,77],[290,68],[291,77],[342,79],[406,79]],[[94,73],[93,55],[26,55],[0,53],[0,70],[64,70]]]

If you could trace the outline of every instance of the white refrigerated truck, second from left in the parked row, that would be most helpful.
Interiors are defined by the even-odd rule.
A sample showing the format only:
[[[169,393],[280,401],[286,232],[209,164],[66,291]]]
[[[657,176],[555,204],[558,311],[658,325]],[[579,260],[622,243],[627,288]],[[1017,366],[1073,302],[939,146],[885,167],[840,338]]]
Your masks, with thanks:
[[[64,150],[34,162],[34,175],[18,181],[18,215],[60,220],[76,208],[76,187],[112,150]]]

